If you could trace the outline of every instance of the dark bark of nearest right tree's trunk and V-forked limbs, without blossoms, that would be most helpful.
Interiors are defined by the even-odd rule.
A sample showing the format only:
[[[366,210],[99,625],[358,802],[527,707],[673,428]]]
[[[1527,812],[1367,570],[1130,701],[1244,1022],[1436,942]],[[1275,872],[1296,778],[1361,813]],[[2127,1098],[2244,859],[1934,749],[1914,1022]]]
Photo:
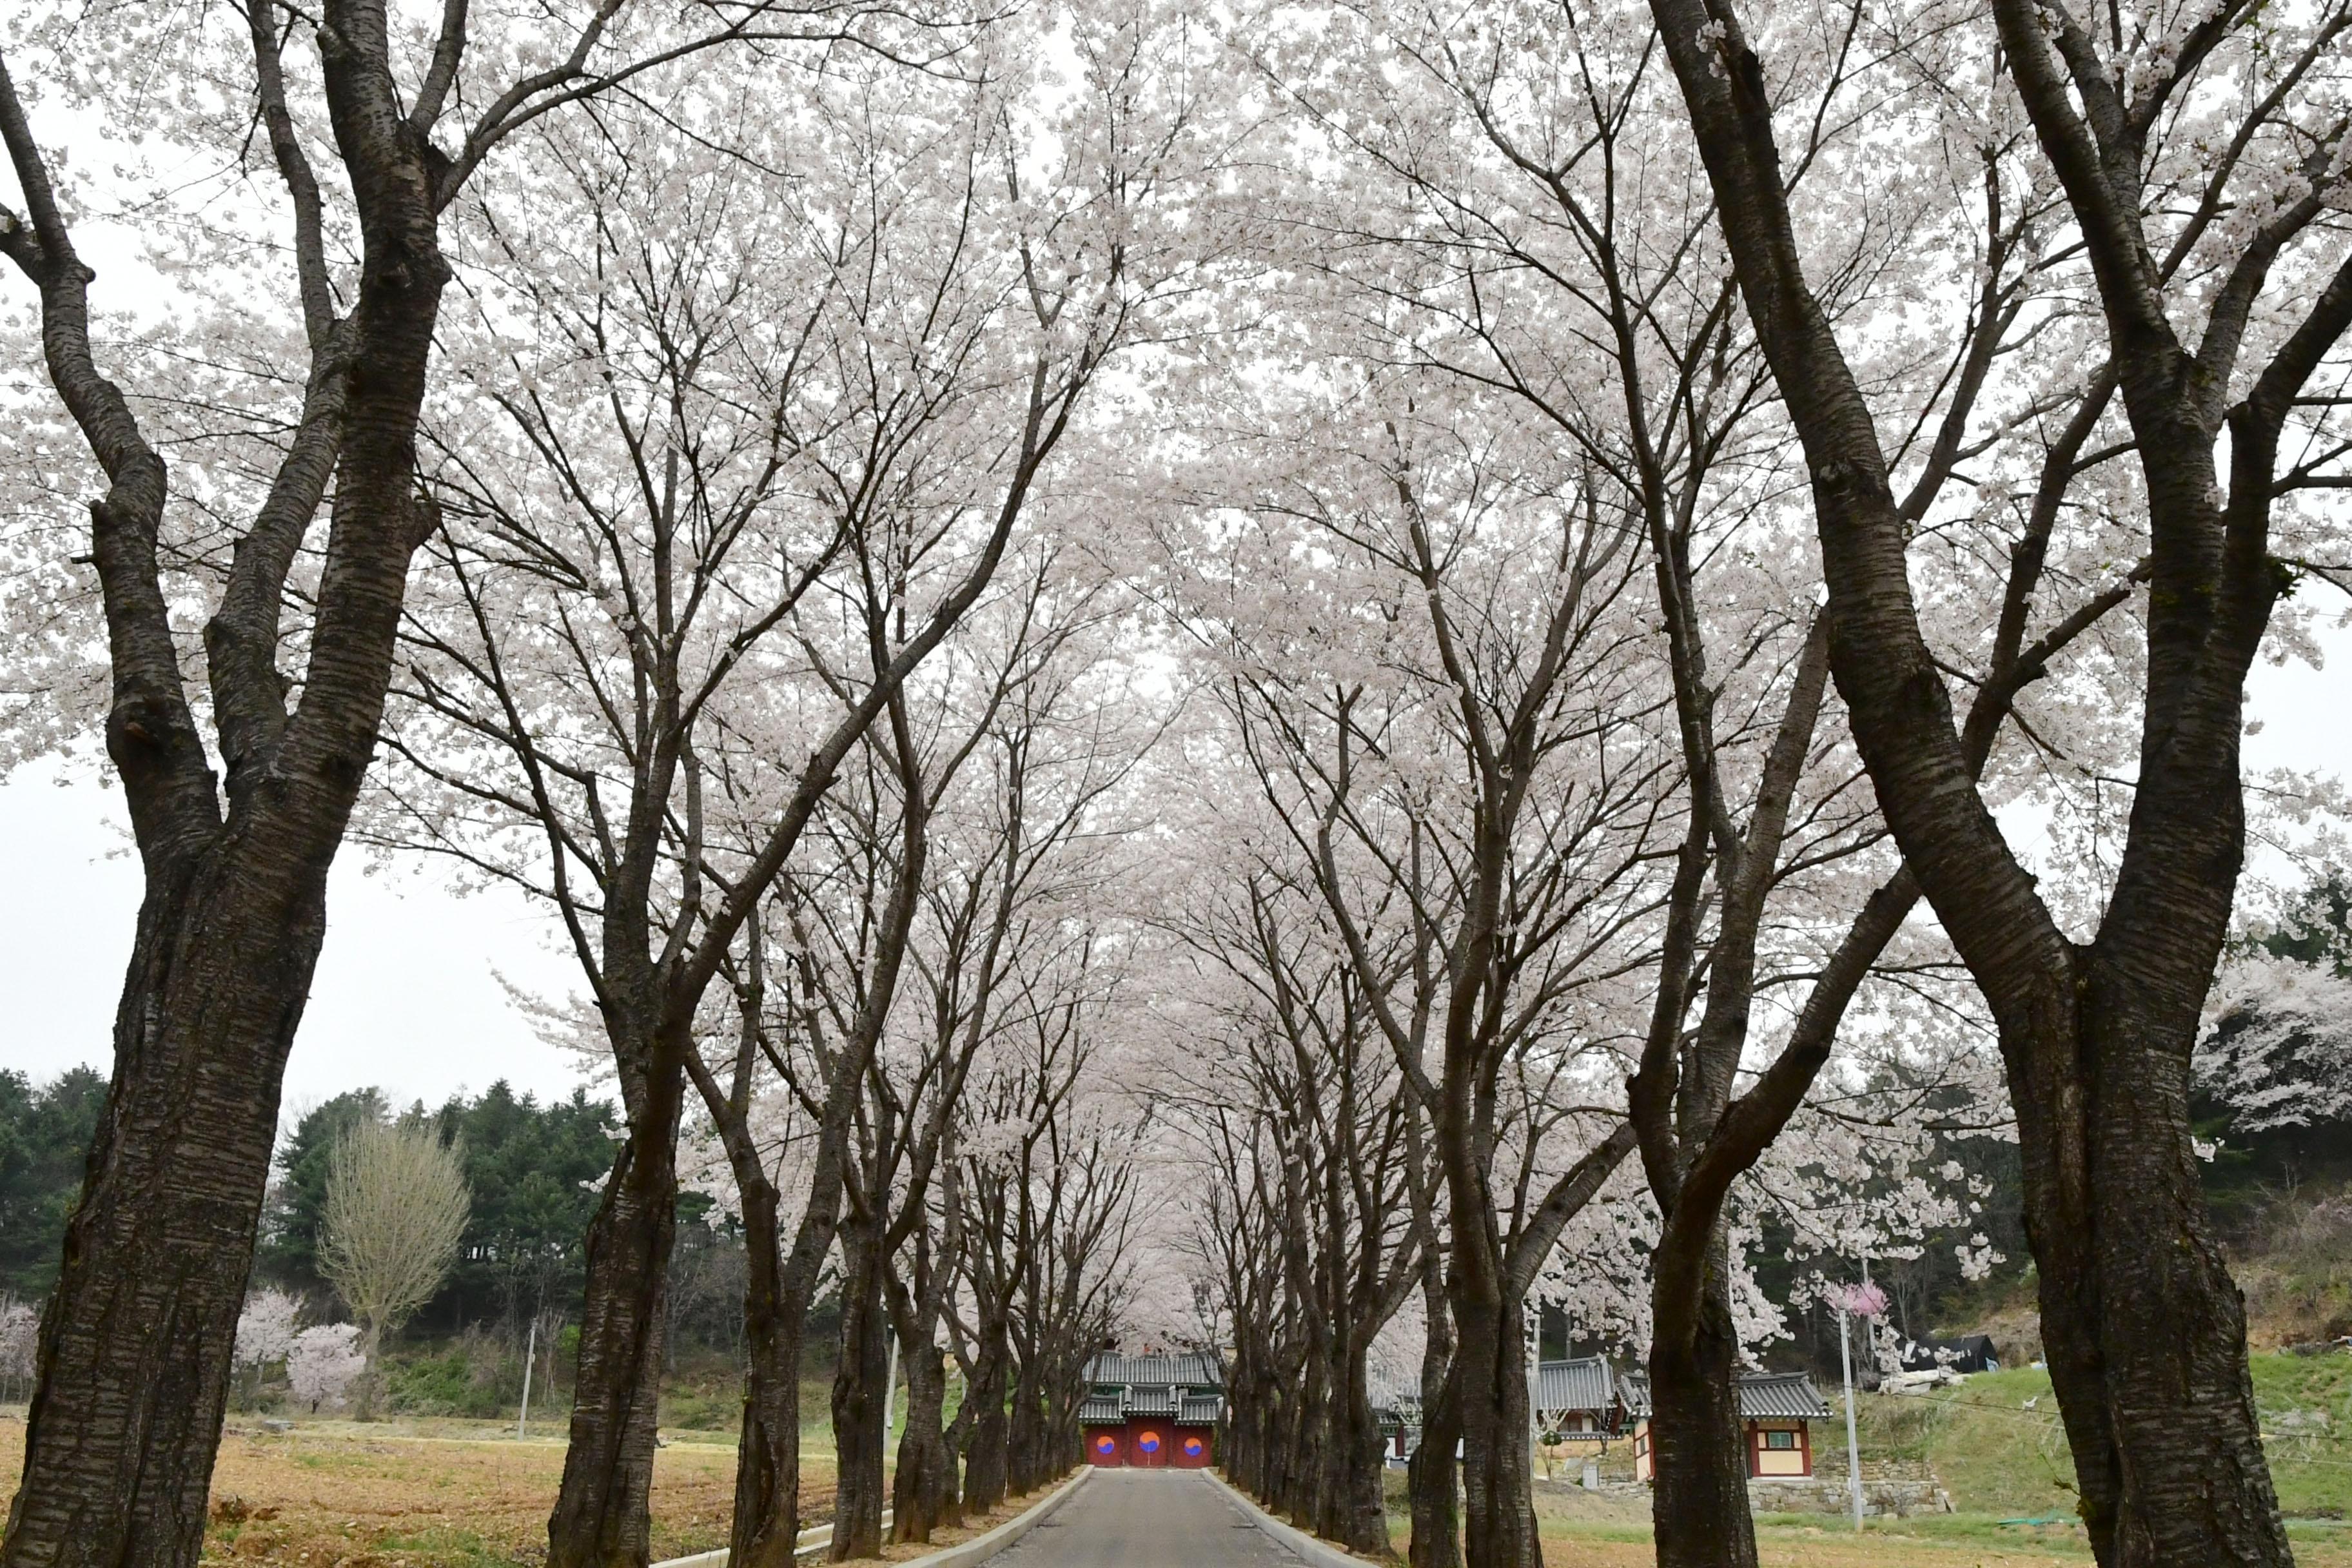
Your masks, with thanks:
[[[2122,101],[2065,5],[1994,2],[2004,66],[2084,235],[2150,512],[2131,832],[2098,936],[2079,945],[1971,788],[1919,632],[1907,527],[1872,409],[1795,244],[1764,66],[1722,0],[1651,0],[1651,12],[1740,294],[1804,442],[1837,689],[1905,863],[1999,1030],[2051,1382],[2091,1549],[2110,1568],[2284,1568],[2293,1554],[2263,1460],[2244,1309],[2194,1180],[2187,1081],[2244,853],[2237,748],[2246,668],[2277,595],[2277,433],[2352,327],[2352,261],[2251,378],[2246,402],[2223,411],[2237,324],[2277,247],[2319,207],[2298,216],[2291,202],[2249,242],[2209,303],[2199,355],[2225,360],[2190,355],[2143,228],[2138,106]],[[2204,47],[2161,71],[2192,71]],[[2227,498],[2213,461],[2220,423],[2232,435]]]

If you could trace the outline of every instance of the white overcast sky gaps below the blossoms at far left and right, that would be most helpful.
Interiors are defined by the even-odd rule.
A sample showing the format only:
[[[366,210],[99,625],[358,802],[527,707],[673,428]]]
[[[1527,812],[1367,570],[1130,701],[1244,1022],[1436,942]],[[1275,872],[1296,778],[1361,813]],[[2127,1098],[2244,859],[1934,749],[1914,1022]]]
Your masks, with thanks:
[[[2331,668],[2260,665],[2260,733],[2246,764],[2352,773],[2347,665],[2352,635],[2326,635]],[[139,907],[122,792],[61,783],[28,766],[0,783],[0,1065],[47,1079],[75,1063],[101,1072]],[[539,1041],[499,976],[541,994],[579,990],[553,924],[520,893],[452,893],[430,867],[369,875],[346,851],[327,889],[327,952],[287,1065],[285,1105],[299,1114],[365,1084],[395,1100],[442,1100],[494,1079],[541,1095],[569,1093],[576,1060]]]

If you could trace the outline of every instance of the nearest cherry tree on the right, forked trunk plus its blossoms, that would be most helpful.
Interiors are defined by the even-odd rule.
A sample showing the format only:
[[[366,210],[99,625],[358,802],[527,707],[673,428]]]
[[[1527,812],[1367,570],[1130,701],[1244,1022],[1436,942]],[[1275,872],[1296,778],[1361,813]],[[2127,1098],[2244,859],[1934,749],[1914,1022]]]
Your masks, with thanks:
[[[1924,14],[1891,19],[1898,52],[1938,59],[1945,92],[1929,101],[1952,103],[1962,134],[2030,136],[2056,176],[2051,221],[2077,235],[2096,310],[2084,320],[2100,327],[2077,421],[2096,425],[2119,397],[2136,465],[2126,517],[2150,581],[2131,679],[2138,776],[2112,877],[2084,889],[2096,933],[2077,936],[2077,910],[2034,886],[1976,788],[1907,578],[1915,522],[1875,421],[1884,400],[1816,294],[1771,73],[1818,71],[1818,52],[1797,33],[1752,33],[1722,0],[1656,0],[1651,14],[1804,442],[1839,693],[1907,867],[1999,1027],[2093,1549],[2103,1563],[2286,1563],[2244,1309],[2197,1185],[2187,1077],[2244,846],[2244,677],[2291,571],[2272,517],[2343,449],[2314,428],[2326,407],[2298,414],[2298,400],[2352,324],[2352,259],[2324,221],[2343,146],[2324,63],[2352,19],[2319,5],[2251,28],[2246,7],[2223,5],[2093,24],[2067,5],[1994,0],[1957,31],[1938,19],[1936,45]]]

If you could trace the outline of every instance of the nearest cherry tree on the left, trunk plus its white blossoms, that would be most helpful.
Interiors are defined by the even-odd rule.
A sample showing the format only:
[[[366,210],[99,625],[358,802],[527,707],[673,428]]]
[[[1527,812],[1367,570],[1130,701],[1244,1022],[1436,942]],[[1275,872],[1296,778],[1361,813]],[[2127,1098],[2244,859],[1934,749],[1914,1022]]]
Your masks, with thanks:
[[[562,106],[722,42],[833,31],[757,0],[12,14],[0,252],[38,296],[42,367],[94,465],[54,470],[52,494],[99,484],[87,548],[42,550],[42,567],[103,646],[92,708],[146,893],[0,1561],[186,1566],[202,1549],[327,870],[374,752],[409,564],[440,520],[416,418],[452,207],[508,179],[508,143]],[[160,59],[174,92],[122,89]],[[52,92],[153,139],[155,200],[129,209],[160,228],[134,221],[134,240],[205,235],[165,280],[167,310],[193,322],[181,343],[118,350],[125,317],[94,317],[111,301],[75,240],[80,172],[35,129]],[[191,386],[198,364],[214,369]]]

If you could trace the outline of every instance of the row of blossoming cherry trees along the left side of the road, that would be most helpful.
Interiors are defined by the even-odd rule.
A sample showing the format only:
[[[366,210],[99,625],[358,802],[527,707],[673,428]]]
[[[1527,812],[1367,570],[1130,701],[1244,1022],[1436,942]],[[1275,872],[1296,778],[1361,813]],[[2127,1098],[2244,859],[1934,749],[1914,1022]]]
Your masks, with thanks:
[[[1181,31],[626,0],[9,28],[0,235],[111,482],[94,555],[33,562],[87,642],[21,719],[106,715],[148,903],[5,1561],[202,1552],[343,837],[541,898],[586,992],[548,1027],[621,1091],[550,1563],[647,1561],[682,1157],[750,1239],[739,1563],[793,1561],[826,1291],[835,1556],[880,1547],[891,1335],[901,1540],[1073,1465],[1134,1211],[1103,886],[1148,741],[1073,522],[1117,449],[1098,383],[1209,244]],[[162,148],[127,172],[151,230],[92,214],[61,134]],[[179,223],[183,294],[94,317],[75,235]],[[54,423],[12,477],[82,491]],[[948,1422],[948,1356],[995,1410]]]

